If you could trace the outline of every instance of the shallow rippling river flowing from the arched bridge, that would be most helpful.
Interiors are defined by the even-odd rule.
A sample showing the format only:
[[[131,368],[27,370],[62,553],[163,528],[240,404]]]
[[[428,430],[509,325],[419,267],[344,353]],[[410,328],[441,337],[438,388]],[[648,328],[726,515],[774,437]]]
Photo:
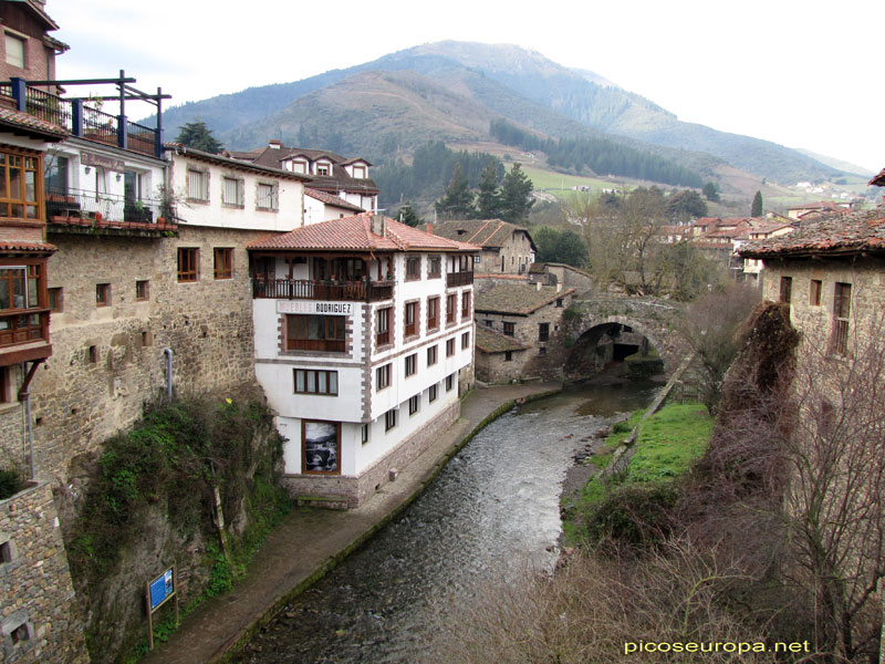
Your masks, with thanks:
[[[558,556],[559,495],[576,449],[612,416],[647,405],[657,385],[570,388],[503,415],[425,494],[288,605],[237,662],[437,662],[436,615],[483,582]]]

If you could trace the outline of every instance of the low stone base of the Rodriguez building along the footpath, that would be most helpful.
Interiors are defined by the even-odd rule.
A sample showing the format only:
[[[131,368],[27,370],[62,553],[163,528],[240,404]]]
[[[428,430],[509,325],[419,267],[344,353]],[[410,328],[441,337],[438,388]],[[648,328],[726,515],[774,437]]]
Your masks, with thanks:
[[[282,484],[294,497],[336,497],[341,498],[341,502],[334,507],[357,507],[391,481],[391,470],[402,470],[414,461],[458,419],[460,413],[461,402],[458,400],[358,477],[290,476],[283,477]],[[327,505],[333,506],[331,502]]]

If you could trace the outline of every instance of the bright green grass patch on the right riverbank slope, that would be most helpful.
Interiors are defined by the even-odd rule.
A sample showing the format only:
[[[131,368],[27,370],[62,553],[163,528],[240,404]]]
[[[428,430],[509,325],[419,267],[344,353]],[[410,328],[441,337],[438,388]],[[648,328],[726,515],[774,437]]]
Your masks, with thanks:
[[[600,523],[607,525],[611,513],[616,510],[629,512],[618,501],[671,501],[674,480],[684,475],[707,448],[712,418],[700,404],[671,404],[644,422],[641,422],[642,416],[643,411],[637,411],[629,419],[616,425],[590,458],[589,463],[597,468],[606,468],[614,450],[638,424],[639,433],[634,443],[636,452],[627,468],[607,480],[597,474],[584,485],[574,509],[563,522],[568,543],[587,540],[587,525],[594,532],[600,532]]]

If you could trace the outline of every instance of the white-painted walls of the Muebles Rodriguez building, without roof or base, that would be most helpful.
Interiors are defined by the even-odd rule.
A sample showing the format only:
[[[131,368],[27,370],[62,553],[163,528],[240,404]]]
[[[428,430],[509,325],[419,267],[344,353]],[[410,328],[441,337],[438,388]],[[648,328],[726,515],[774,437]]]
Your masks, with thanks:
[[[430,257],[439,259],[439,276],[428,274]],[[288,438],[284,447],[288,476],[305,473],[310,473],[311,477],[329,475],[316,473],[315,468],[305,468],[309,452],[302,432],[310,436],[308,427],[314,426],[311,423],[333,423],[340,430],[339,458],[332,475],[358,477],[458,400],[458,373],[473,361],[472,282],[446,287],[446,253],[400,251],[393,253],[392,258],[396,279],[393,282],[393,297],[386,300],[253,301],[256,374],[278,414],[280,433]],[[419,278],[406,280],[406,260],[415,258],[420,262]],[[382,258],[382,261],[386,261],[386,258]],[[386,262],[383,264],[386,270]],[[374,278],[377,263],[369,262],[367,267]],[[289,269],[282,258],[277,259],[275,277],[289,277]],[[308,264],[295,264],[292,278],[306,277]],[[447,297],[454,297],[456,303],[454,320],[449,323],[446,321]],[[437,324],[431,329],[428,302],[433,299],[436,299]],[[462,311],[465,302],[467,310]],[[417,307],[417,310],[413,309],[415,334],[408,338],[405,325],[407,304]],[[389,313],[379,314],[379,310],[389,310]],[[343,317],[345,350],[284,350],[289,324],[284,319],[292,313]],[[389,321],[389,343],[378,346],[378,321],[384,315]],[[428,349],[434,346],[435,353],[428,355]],[[412,375],[406,375],[407,363]],[[383,369],[385,366],[389,366],[389,370]],[[298,393],[295,370],[335,372],[337,394]],[[379,371],[389,371],[389,385],[378,384]],[[331,381],[330,374],[325,375],[327,377],[324,380]],[[436,395],[431,401],[434,391]],[[415,406],[417,409],[410,413]],[[392,412],[396,414],[392,415]],[[316,425],[315,428],[319,430],[323,426]],[[367,438],[365,442],[364,435]]]

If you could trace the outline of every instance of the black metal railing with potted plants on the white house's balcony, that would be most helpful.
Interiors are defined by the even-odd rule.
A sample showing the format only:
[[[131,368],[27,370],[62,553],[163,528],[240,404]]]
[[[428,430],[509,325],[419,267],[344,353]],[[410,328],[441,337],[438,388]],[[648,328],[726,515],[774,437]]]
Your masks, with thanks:
[[[46,193],[46,218],[93,219],[95,221],[119,221],[156,224],[163,216],[164,205],[159,199],[132,199],[115,194],[96,194],[82,189]],[[173,222],[171,216],[168,219]]]

